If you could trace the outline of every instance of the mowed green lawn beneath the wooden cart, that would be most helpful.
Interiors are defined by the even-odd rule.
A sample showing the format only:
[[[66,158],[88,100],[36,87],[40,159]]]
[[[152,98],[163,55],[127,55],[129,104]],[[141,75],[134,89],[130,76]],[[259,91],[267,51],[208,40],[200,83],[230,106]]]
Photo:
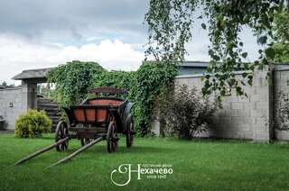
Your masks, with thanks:
[[[23,165],[7,168],[34,150],[53,142],[52,135],[37,139],[0,134],[0,190],[280,190],[289,188],[289,144],[248,141],[178,141],[137,138],[126,149],[122,138],[117,151],[108,154],[101,142],[71,161],[43,170],[77,150],[56,150]],[[120,164],[172,164],[165,179],[136,179],[115,186],[110,172]]]

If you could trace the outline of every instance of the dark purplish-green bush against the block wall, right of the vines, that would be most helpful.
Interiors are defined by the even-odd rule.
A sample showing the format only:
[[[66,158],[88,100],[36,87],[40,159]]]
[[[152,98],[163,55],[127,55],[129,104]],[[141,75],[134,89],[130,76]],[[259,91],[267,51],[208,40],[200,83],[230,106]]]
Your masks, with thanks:
[[[179,139],[191,140],[196,133],[205,132],[216,104],[198,95],[196,88],[188,90],[180,86],[173,94],[173,86],[165,87],[156,105],[162,123],[163,135],[177,135]]]

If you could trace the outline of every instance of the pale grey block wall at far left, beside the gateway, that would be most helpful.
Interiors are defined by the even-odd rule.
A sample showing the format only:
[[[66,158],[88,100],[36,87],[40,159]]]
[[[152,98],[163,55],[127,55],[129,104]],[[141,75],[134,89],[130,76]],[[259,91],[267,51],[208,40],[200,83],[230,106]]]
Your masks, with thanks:
[[[23,92],[21,87],[0,89],[0,115],[4,116],[5,128],[14,130],[19,114],[23,113]]]

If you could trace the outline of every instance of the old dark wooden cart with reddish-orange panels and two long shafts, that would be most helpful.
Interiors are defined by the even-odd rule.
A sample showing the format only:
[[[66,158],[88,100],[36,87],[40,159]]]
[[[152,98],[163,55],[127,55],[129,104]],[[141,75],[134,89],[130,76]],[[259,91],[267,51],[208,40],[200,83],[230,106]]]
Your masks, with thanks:
[[[114,152],[117,150],[118,134],[126,135],[126,147],[130,148],[135,132],[133,117],[130,114],[133,103],[126,99],[126,90],[104,86],[91,89],[89,93],[94,96],[80,105],[63,108],[68,120],[57,124],[55,143],[18,160],[14,165],[33,159],[52,148],[58,151],[68,150],[71,139],[79,139],[82,147],[50,167],[72,159],[99,141],[106,140],[107,151]]]

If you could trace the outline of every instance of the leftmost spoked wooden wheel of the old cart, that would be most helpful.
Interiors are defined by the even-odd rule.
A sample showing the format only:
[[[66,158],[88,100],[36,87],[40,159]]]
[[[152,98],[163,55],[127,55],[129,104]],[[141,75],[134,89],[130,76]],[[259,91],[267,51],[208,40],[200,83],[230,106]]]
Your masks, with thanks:
[[[68,128],[67,123],[65,123],[64,121],[59,122],[55,130],[55,142],[60,141],[69,136],[70,134],[69,134],[69,128]],[[63,150],[67,150],[68,147],[69,147],[69,140],[64,141],[63,143],[58,145],[56,147],[56,150],[63,151]]]

